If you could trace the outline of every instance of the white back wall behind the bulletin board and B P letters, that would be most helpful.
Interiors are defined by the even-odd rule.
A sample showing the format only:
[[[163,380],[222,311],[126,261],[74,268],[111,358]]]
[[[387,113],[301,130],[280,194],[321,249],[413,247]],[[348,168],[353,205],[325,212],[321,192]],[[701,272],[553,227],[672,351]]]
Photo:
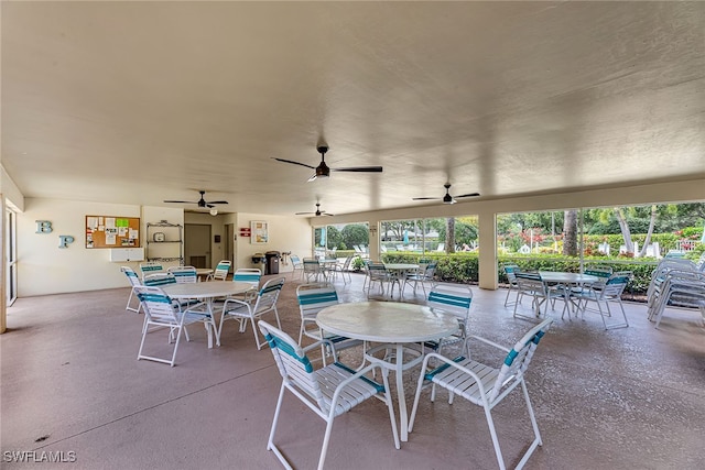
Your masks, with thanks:
[[[122,216],[141,218],[141,241],[147,248],[147,222],[166,220],[170,223],[210,223],[213,234],[220,234],[221,242],[212,239],[213,260],[223,259],[221,245],[225,223],[249,227],[250,220],[269,222],[270,242],[250,244],[249,238],[236,237],[237,266],[251,267],[250,256],[256,252],[294,251],[305,256],[311,254],[311,226],[307,219],[267,216],[262,214],[184,215],[181,208],[132,206],[118,204],[84,203],[26,198],[24,212],[18,214],[18,294],[19,297],[67,292],[96,291],[127,287],[121,265],[139,272],[139,261],[111,262],[110,249],[85,248],[85,217],[87,215]],[[52,222],[51,233],[36,233],[36,220]],[[238,230],[239,231],[239,230]],[[58,248],[58,236],[74,237],[66,249]],[[145,255],[149,254],[145,250]],[[177,263],[164,263],[171,265]],[[291,271],[291,264],[280,263],[280,273]]]

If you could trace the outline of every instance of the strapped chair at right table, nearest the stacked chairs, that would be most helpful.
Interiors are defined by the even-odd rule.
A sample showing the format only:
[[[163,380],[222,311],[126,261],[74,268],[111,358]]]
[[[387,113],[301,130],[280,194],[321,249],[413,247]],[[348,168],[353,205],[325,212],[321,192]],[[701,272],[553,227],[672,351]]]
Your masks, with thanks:
[[[571,297],[577,300],[577,309],[585,317],[585,311],[597,311],[603,318],[605,329],[625,328],[629,326],[625,306],[621,303],[621,294],[632,277],[631,271],[618,271],[610,275],[605,284],[587,285],[581,291],[573,291]],[[589,303],[595,303],[595,307],[588,307]],[[617,304],[621,309],[623,321],[607,324],[606,318],[612,316],[609,304]]]

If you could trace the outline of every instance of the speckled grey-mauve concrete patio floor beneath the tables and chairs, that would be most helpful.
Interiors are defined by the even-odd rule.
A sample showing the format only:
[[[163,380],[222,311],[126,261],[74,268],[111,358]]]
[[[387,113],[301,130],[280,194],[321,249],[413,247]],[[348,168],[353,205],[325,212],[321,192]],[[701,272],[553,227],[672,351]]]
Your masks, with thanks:
[[[295,287],[280,297],[283,329],[296,337]],[[127,282],[126,282],[127,284]],[[362,276],[335,283],[344,302],[366,299]],[[535,323],[503,307],[507,291],[473,287],[473,334],[511,346]],[[137,361],[142,315],[124,310],[129,289],[20,298],[0,336],[2,468],[276,469],[267,439],[281,384],[272,354],[248,327],[226,323],[207,349],[189,328],[176,367]],[[423,302],[406,291],[405,300]],[[530,303],[520,309],[531,314]],[[655,330],[644,304],[626,304],[630,327],[605,331],[596,315],[556,321],[542,340],[528,387],[543,437],[529,469],[705,468],[705,328],[696,313],[666,310]],[[271,318],[271,317],[270,317]],[[159,338],[158,338],[159,337]],[[163,339],[163,341],[162,341]],[[165,334],[151,345],[165,347]],[[166,349],[164,349],[166,351]],[[499,361],[487,348],[480,360]],[[359,363],[359,351],[345,351]],[[417,369],[405,374],[411,406]],[[393,381],[392,381],[393,382]],[[393,385],[392,385],[393,387]],[[429,392],[409,441],[393,447],[386,407],[369,401],[336,419],[326,468],[495,469],[480,408],[448,405]],[[508,466],[531,441],[525,406],[513,393],[494,411]],[[288,395],[276,441],[294,468],[315,468],[325,423]],[[12,452],[64,463],[18,463]],[[63,452],[63,453],[56,453]]]

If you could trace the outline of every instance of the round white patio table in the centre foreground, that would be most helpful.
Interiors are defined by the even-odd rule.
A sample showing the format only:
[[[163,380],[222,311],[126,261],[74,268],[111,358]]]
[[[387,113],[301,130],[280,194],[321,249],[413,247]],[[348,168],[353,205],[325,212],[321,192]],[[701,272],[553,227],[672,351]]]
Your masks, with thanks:
[[[438,311],[434,313],[424,305],[395,302],[358,302],[326,307],[318,313],[316,323],[323,330],[335,335],[364,341],[381,342],[389,348],[394,348],[394,362],[372,358],[370,354],[366,354],[366,359],[379,362],[382,367],[393,370],[397,374],[401,440],[406,441],[409,437],[409,416],[402,373],[404,370],[421,363],[423,353],[414,350],[413,352],[419,356],[404,363],[404,345],[423,343],[424,341],[452,335],[458,329],[456,317]],[[379,348],[375,349],[379,350]]]

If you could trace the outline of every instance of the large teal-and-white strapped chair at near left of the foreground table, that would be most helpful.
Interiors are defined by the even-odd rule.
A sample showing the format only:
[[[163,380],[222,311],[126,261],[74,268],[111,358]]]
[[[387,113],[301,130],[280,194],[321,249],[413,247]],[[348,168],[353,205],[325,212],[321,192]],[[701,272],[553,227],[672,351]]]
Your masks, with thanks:
[[[274,361],[282,375],[282,385],[279,392],[279,400],[276,401],[276,409],[274,411],[274,419],[272,420],[272,429],[267,442],[267,450],[273,451],[285,468],[291,469],[292,467],[274,444],[274,434],[284,398],[284,391],[286,390],[326,422],[323,447],[318,459],[318,470],[323,469],[325,463],[334,419],[371,397],[377,397],[386,403],[392,426],[394,447],[397,449],[400,448],[394,409],[389,393],[389,383],[387,374],[381,371],[379,364],[370,364],[355,372],[347,365],[338,362],[335,347],[328,340],[324,339],[306,348],[301,348],[301,346],[281,329],[274,328],[262,320],[259,321],[259,327],[269,342],[270,350],[274,356]],[[324,343],[327,343],[328,348],[330,348],[335,362],[314,370],[306,353],[319,348]],[[365,374],[376,369],[380,369],[380,375],[383,381],[381,384],[365,376]],[[352,462],[349,463],[354,466]]]

